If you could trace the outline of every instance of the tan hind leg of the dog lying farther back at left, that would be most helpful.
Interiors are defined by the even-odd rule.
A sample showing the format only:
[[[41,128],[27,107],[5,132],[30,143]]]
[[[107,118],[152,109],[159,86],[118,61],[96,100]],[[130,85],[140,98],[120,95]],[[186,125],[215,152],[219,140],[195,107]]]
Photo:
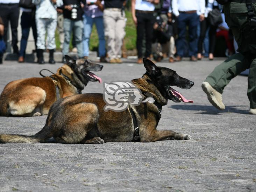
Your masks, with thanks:
[[[45,98],[46,93],[42,88],[26,86],[17,98],[9,102],[8,111],[13,116],[41,115],[40,106],[43,105]]]

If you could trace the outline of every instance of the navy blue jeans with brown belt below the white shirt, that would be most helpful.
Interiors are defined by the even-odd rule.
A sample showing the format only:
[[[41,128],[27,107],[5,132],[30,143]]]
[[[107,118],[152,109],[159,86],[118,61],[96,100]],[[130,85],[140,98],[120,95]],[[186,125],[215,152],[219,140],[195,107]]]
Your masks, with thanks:
[[[176,42],[177,55],[184,56],[184,46],[186,44],[186,28],[189,26],[189,56],[195,56],[197,50],[197,26],[199,16],[197,13],[180,13],[177,17],[178,39]]]

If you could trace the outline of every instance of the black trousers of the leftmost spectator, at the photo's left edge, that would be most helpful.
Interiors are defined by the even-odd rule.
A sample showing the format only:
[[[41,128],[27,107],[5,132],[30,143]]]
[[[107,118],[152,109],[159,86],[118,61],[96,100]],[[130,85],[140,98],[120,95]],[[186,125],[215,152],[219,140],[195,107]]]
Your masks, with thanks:
[[[7,29],[8,24],[10,21],[10,26],[12,30],[12,47],[14,52],[18,51],[17,42],[18,42],[18,35],[17,35],[17,27],[19,21],[19,4],[18,3],[0,3],[0,17],[2,17],[3,24],[5,26],[3,40],[7,45]]]

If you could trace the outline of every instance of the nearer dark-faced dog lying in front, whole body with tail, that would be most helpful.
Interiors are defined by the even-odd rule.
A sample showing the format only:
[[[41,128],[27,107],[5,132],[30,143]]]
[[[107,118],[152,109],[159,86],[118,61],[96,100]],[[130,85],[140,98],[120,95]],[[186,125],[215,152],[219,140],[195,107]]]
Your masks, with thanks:
[[[161,118],[162,106],[167,104],[168,99],[174,102],[193,102],[186,100],[171,86],[189,89],[194,83],[171,69],[156,66],[148,59],[143,59],[143,62],[147,72],[132,82],[143,95],[150,93],[157,104],[144,102],[138,106],[129,106],[122,112],[105,112],[102,94],[73,95],[51,106],[45,126],[35,135],[0,134],[0,143],[47,142],[51,137],[58,143],[73,144],[133,141],[136,134],[133,116],[139,128],[137,141],[189,140],[190,135],[157,130],[156,127]]]

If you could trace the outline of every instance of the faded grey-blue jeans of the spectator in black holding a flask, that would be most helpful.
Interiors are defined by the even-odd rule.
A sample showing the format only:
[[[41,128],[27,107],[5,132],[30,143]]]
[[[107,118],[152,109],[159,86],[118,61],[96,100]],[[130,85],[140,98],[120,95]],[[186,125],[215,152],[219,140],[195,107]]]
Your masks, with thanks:
[[[83,55],[83,28],[84,24],[82,20],[74,21],[71,19],[64,18],[64,43],[63,43],[63,49],[62,49],[62,55],[63,57],[69,53],[69,43],[70,43],[70,34],[71,31],[73,31],[73,38],[76,42],[77,51],[78,51],[78,57],[82,58]]]

